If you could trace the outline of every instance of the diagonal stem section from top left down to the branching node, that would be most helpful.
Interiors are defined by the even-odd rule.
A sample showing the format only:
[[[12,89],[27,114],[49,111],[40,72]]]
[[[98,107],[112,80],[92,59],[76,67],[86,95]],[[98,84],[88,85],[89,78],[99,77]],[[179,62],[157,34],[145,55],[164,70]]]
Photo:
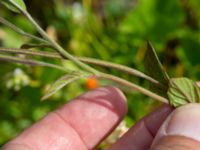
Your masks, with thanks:
[[[19,5],[17,5],[15,2],[10,1],[9,2],[15,7],[17,8],[28,20],[29,22],[35,27],[35,29],[41,34],[41,36],[47,40],[49,42],[49,44],[52,45],[52,47],[55,48],[55,50],[57,50],[58,53],[60,53],[62,56],[64,56],[65,58],[70,59],[71,61],[73,61],[75,64],[77,64],[78,66],[80,66],[82,69],[85,69],[86,71],[93,73],[95,75],[97,75],[99,73],[99,71],[97,71],[96,69],[82,63],[81,61],[79,61],[78,59],[76,59],[75,57],[73,57],[71,54],[69,54],[67,51],[65,51],[57,42],[55,42],[54,40],[52,40],[47,33],[38,25],[38,23],[32,18],[32,16],[25,10],[21,9]]]

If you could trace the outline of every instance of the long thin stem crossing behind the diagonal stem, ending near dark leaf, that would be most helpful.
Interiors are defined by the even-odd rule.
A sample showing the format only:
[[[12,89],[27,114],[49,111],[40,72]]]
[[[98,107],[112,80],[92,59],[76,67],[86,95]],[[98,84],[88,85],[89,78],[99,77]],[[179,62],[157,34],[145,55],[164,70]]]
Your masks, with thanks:
[[[38,51],[38,50],[35,51],[35,50],[28,50],[28,49],[0,48],[0,52],[18,53],[18,54],[25,54],[25,55],[35,55],[35,56],[42,56],[42,57],[49,57],[49,58],[63,58],[62,56],[60,56],[57,53],[44,52],[44,51]],[[129,67],[124,66],[124,65],[115,64],[115,63],[111,63],[111,62],[107,62],[107,61],[103,61],[103,60],[98,60],[98,59],[94,59],[94,58],[88,58],[88,57],[76,57],[76,58],[79,59],[80,61],[85,62],[85,63],[104,66],[104,67],[108,67],[108,68],[114,68],[114,69],[117,69],[119,71],[123,71],[123,72],[129,73],[131,75],[144,78],[144,79],[146,79],[146,80],[148,80],[148,81],[150,81],[150,82],[152,82],[152,83],[154,83],[158,86],[162,86],[157,80],[151,78],[150,76],[144,74],[143,72],[140,72],[140,71],[133,69],[133,68],[129,68]]]

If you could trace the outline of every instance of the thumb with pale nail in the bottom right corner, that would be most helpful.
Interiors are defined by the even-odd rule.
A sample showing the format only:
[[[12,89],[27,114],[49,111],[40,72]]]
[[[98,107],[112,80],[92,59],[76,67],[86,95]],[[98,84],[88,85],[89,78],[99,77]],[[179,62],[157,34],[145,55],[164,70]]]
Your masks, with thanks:
[[[199,150],[200,104],[177,108],[159,129],[151,150]]]

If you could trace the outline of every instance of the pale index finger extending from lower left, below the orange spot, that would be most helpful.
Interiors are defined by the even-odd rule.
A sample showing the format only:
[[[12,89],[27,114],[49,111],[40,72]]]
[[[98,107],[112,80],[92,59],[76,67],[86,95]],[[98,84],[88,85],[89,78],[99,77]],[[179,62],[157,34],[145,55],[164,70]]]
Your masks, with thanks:
[[[87,150],[94,148],[127,112],[114,87],[90,91],[51,112],[6,144],[4,150]]]

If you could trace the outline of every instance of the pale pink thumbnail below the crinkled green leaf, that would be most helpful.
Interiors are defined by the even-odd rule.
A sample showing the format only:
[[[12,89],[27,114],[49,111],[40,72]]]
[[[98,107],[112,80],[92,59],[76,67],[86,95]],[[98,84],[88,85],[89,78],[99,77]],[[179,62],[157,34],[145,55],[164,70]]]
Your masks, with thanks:
[[[200,141],[200,104],[177,108],[159,129],[153,145],[163,136],[178,135]]]

